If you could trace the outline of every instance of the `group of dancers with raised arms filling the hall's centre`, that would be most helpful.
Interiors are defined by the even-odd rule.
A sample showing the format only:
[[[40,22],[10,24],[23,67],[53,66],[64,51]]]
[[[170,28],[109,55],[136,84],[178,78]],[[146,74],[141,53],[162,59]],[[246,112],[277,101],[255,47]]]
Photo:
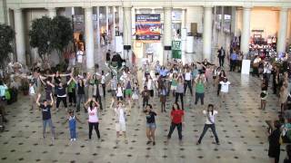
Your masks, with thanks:
[[[197,65],[201,69],[197,69]],[[97,138],[101,138],[99,131],[99,112],[105,110],[102,101],[105,100],[106,92],[111,94],[110,110],[115,113],[115,131],[116,143],[123,136],[126,138],[126,117],[131,115],[132,108],[139,105],[143,108],[146,116],[146,144],[156,145],[156,116],[157,108],[153,108],[153,101],[159,97],[161,108],[160,112],[170,112],[171,125],[167,135],[167,141],[177,128],[179,142],[182,143],[182,128],[185,124],[185,101],[187,89],[190,91],[190,98],[194,98],[193,88],[195,88],[195,104],[201,101],[204,105],[206,89],[209,86],[217,87],[217,95],[222,96],[222,102],[226,101],[226,94],[230,82],[227,81],[226,72],[221,67],[207,62],[196,62],[183,64],[182,62],[168,62],[166,66],[159,62],[153,65],[149,62],[143,63],[139,69],[143,74],[142,80],[137,79],[138,70],[125,67],[120,75],[112,75],[112,72],[85,72],[75,74],[75,70],[70,69],[66,73],[51,73],[49,71],[40,72],[35,69],[31,76],[29,94],[31,98],[32,109],[35,109],[35,103],[43,115],[43,137],[45,139],[45,128],[48,125],[51,129],[52,139],[55,139],[55,127],[52,121],[51,110],[60,110],[61,102],[64,104],[67,118],[64,123],[68,123],[70,131],[70,140],[76,140],[76,123],[85,123],[76,117],[75,112],[79,112],[83,107],[87,114],[88,138],[92,139],[92,131],[95,129]],[[212,80],[211,77],[212,76]],[[213,83],[211,83],[213,81]],[[107,90],[106,90],[107,89]],[[142,91],[140,91],[142,89]],[[166,109],[166,101],[170,96],[174,96],[175,101],[171,110]],[[41,100],[42,99],[42,100]],[[67,99],[69,100],[68,110]],[[180,99],[180,101],[179,101]],[[140,102],[141,101],[141,104]],[[72,109],[72,107],[75,109]],[[139,107],[136,107],[139,108]],[[205,127],[196,144],[200,144],[206,130],[210,128],[215,136],[216,144],[219,145],[219,139],[216,134],[215,116],[218,113],[213,104],[208,104],[206,110],[202,113],[206,117]]]

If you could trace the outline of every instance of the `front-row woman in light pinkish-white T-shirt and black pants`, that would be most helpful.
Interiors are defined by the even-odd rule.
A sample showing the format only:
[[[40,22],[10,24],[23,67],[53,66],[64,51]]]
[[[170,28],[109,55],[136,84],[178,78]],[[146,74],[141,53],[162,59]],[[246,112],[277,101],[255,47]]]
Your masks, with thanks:
[[[88,124],[89,124],[89,139],[92,136],[93,127],[96,131],[98,139],[100,139],[100,132],[99,132],[99,119],[98,119],[98,109],[99,103],[95,101],[95,98],[89,98],[88,101],[85,102],[85,106],[89,104],[88,107]]]

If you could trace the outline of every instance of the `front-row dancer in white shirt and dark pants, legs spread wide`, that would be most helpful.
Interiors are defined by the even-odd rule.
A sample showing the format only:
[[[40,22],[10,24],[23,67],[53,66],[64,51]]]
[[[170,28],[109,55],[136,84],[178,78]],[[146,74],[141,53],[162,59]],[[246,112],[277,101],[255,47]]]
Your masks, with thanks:
[[[203,132],[202,132],[200,138],[198,139],[196,145],[201,144],[201,140],[205,136],[206,131],[207,131],[208,128],[210,128],[212,130],[213,134],[215,135],[216,144],[220,145],[219,139],[218,139],[217,134],[216,134],[215,116],[216,116],[217,113],[218,113],[218,111],[214,110],[214,105],[213,104],[208,104],[207,110],[203,110],[203,114],[206,116],[206,123],[204,125]]]

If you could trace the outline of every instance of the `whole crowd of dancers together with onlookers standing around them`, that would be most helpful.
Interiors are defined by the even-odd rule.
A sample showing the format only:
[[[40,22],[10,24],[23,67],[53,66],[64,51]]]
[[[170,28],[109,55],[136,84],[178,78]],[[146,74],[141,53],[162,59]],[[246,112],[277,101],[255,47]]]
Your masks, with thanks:
[[[106,62],[111,62],[110,52],[108,53],[106,54]],[[206,96],[210,96],[206,94],[206,90],[210,87],[215,87],[216,96],[219,97],[220,103],[216,105],[208,103],[206,104],[206,109],[201,112],[201,115],[205,115],[206,122],[200,138],[196,141],[196,145],[201,144],[209,128],[215,136],[216,144],[219,145],[220,141],[216,134],[215,120],[218,114],[217,109],[224,106],[229,87],[234,86],[227,79],[226,72],[228,70],[226,71],[225,67],[225,56],[225,50],[220,48],[217,52],[219,66],[208,62],[206,59],[203,62],[191,63],[173,60],[172,62],[167,62],[166,65],[161,65],[158,61],[155,63],[146,61],[139,68],[124,65],[119,69],[119,75],[112,72],[110,68],[80,73],[75,68],[68,68],[65,72],[58,72],[57,70],[53,72],[52,70],[41,70],[40,67],[35,67],[30,74],[21,74],[20,76],[30,81],[31,110],[39,108],[42,112],[44,139],[46,137],[46,125],[51,129],[52,139],[55,139],[55,127],[52,120],[54,117],[52,117],[51,111],[59,111],[63,108],[67,112],[64,124],[68,123],[69,125],[71,141],[77,139],[77,122],[85,123],[85,121],[88,123],[88,139],[92,139],[93,129],[95,129],[97,138],[100,139],[102,134],[99,131],[99,113],[105,110],[106,107],[103,101],[108,96],[107,92],[110,92],[111,103],[109,108],[115,114],[116,143],[119,143],[121,136],[124,138],[125,144],[128,143],[126,117],[132,114],[132,108],[137,104],[143,109],[146,118],[146,137],[148,139],[146,144],[153,144],[154,146],[156,145],[157,116],[165,116],[169,112],[171,124],[166,143],[171,139],[174,130],[177,128],[179,143],[182,144],[182,132],[185,125],[184,117],[186,110],[189,109],[189,106],[186,105],[188,103],[185,101],[185,96],[193,97],[194,107],[196,107],[198,101],[204,107]],[[240,72],[243,55],[233,50],[230,51],[228,58],[229,72]],[[253,61],[252,67],[253,75],[262,76],[260,109],[266,110],[267,89],[270,82],[272,82],[273,91],[279,95],[281,105],[278,110],[279,118],[285,119],[284,126],[286,126],[291,121],[291,108],[288,105],[288,101],[291,101],[288,69],[282,72],[273,62],[269,62],[267,58],[261,58],[260,56],[257,56]],[[260,67],[263,67],[262,71],[259,71]],[[137,72],[142,73],[142,79],[137,79]],[[271,75],[273,80],[270,80]],[[0,113],[3,115],[3,120],[5,120],[4,102],[6,90],[7,86],[1,81],[0,96],[3,97],[1,99],[1,107],[3,109],[1,109]],[[166,108],[166,102],[171,96],[175,101],[171,102],[172,107],[168,109]],[[153,101],[156,97],[160,101],[160,110],[153,108]],[[63,104],[63,107],[61,104]],[[81,109],[84,109],[85,114],[87,114],[87,120],[80,120],[76,117],[75,112],[79,112]],[[279,155],[276,148],[280,146],[280,143],[277,143],[279,141],[277,135],[281,133],[281,130],[276,129],[282,128],[282,123],[280,124],[279,128],[279,125],[275,124],[275,128],[273,128],[269,137],[269,156],[276,158],[276,162]],[[289,146],[287,147],[290,149]],[[272,153],[275,150],[276,152]]]

